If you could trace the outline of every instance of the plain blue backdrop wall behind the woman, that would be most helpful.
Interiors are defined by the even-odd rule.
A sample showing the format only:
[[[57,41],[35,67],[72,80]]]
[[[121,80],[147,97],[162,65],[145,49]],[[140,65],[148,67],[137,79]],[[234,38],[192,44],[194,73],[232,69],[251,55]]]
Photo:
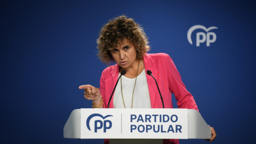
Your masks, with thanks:
[[[214,143],[253,141],[255,1],[1,1],[0,7],[0,141],[103,141],[64,139],[63,126],[73,109],[91,107],[78,86],[99,87],[106,66],[97,58],[96,39],[104,23],[122,14],[145,29],[149,53],[172,57],[206,123],[217,131]],[[187,33],[195,25],[217,27],[208,31],[216,41],[206,46],[213,35],[196,29],[190,44]],[[196,46],[200,33],[206,40]]]

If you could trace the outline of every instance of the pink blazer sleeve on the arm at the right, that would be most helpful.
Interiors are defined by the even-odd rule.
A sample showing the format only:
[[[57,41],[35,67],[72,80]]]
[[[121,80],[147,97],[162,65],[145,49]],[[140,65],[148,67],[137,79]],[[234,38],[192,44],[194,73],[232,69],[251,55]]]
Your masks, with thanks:
[[[178,107],[195,109],[198,111],[193,95],[187,91],[186,86],[181,81],[181,76],[173,63],[173,60],[169,55],[167,57],[167,62],[169,89],[175,95]]]

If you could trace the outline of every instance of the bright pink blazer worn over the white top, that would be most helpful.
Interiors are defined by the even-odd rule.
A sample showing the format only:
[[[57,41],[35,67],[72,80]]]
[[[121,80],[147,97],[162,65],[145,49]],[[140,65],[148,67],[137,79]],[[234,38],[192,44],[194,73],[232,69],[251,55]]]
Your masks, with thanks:
[[[191,95],[181,81],[181,76],[175,67],[173,60],[168,54],[156,53],[146,54],[143,57],[145,71],[152,71],[161,91],[165,108],[173,108],[171,93],[175,95],[179,108],[196,109],[198,111],[193,95]],[[118,78],[119,66],[107,67],[103,70],[100,78],[100,93],[103,98],[103,107],[106,108],[110,95]],[[151,108],[162,108],[162,101],[153,77],[146,74],[150,94]],[[114,96],[113,96],[114,97]],[[113,108],[113,98],[109,108]]]

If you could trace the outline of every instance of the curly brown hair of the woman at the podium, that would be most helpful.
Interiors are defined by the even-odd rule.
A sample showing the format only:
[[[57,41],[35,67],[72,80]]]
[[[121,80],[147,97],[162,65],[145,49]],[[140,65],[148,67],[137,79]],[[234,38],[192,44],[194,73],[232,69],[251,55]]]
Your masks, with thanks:
[[[121,42],[127,39],[137,49],[137,59],[143,59],[143,55],[150,50],[148,37],[144,30],[132,18],[121,15],[108,21],[100,30],[97,39],[98,57],[107,65],[114,61],[110,51]]]

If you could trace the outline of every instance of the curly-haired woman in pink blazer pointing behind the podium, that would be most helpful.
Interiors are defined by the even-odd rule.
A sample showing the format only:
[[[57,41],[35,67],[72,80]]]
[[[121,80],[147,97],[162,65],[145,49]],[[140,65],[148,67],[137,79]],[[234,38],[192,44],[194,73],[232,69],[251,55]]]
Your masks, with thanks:
[[[109,108],[162,108],[154,79],[146,74],[151,70],[163,95],[165,108],[172,108],[171,93],[174,93],[179,108],[196,109],[194,97],[186,90],[171,57],[165,53],[148,54],[148,38],[133,19],[122,15],[110,20],[100,31],[98,57],[109,64],[100,78],[100,89],[81,85],[84,97],[93,100],[93,108],[106,108],[122,70],[126,74],[118,82]],[[216,137],[212,129],[213,141]],[[163,140],[163,143],[179,143],[178,140]]]

